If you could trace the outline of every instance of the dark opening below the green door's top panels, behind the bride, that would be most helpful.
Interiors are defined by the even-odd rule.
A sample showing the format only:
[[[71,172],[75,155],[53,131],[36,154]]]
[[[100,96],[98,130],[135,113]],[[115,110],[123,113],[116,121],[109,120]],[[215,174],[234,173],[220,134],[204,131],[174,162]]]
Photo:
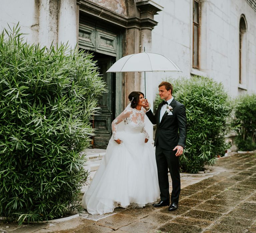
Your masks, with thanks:
[[[91,53],[91,51],[89,51]],[[107,86],[107,93],[99,98],[100,113],[94,117],[93,127],[95,136],[93,137],[93,148],[106,149],[108,141],[112,135],[111,122],[115,118],[115,77],[114,73],[106,71],[115,62],[115,57],[93,52],[99,73]]]

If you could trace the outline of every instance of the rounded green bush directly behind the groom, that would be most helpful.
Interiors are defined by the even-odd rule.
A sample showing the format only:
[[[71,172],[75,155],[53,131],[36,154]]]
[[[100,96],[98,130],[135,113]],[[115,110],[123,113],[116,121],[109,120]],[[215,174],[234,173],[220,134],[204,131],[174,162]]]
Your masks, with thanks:
[[[204,165],[213,165],[216,156],[227,149],[231,101],[222,84],[206,77],[167,81],[173,84],[174,98],[186,107],[187,141],[180,158],[181,170],[197,173]],[[155,107],[161,101],[158,96]]]

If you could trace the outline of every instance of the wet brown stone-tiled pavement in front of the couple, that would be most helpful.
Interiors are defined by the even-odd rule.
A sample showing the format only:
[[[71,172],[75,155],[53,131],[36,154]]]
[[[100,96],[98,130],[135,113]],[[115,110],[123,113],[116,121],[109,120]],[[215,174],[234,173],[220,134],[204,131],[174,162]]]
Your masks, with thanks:
[[[177,211],[151,205],[142,209],[116,208],[105,215],[84,212],[61,223],[22,227],[2,224],[0,233],[256,233],[256,154],[221,157],[213,168],[209,173],[182,173]]]

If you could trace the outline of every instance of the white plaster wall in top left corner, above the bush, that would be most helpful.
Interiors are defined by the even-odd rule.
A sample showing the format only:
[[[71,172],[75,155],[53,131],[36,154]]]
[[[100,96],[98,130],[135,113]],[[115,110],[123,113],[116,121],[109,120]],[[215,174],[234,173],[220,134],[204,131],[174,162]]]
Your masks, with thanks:
[[[24,39],[38,42],[38,4],[35,0],[0,0],[0,31],[11,28],[19,22]]]

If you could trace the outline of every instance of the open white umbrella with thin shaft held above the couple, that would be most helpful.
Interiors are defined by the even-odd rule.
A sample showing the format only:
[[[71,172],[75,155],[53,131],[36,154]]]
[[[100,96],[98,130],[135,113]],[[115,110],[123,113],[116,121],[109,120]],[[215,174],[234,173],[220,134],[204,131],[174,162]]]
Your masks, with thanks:
[[[153,72],[153,71],[177,71],[182,72],[180,68],[169,58],[157,53],[136,53],[120,58],[107,72]],[[145,96],[146,96],[146,75]]]

